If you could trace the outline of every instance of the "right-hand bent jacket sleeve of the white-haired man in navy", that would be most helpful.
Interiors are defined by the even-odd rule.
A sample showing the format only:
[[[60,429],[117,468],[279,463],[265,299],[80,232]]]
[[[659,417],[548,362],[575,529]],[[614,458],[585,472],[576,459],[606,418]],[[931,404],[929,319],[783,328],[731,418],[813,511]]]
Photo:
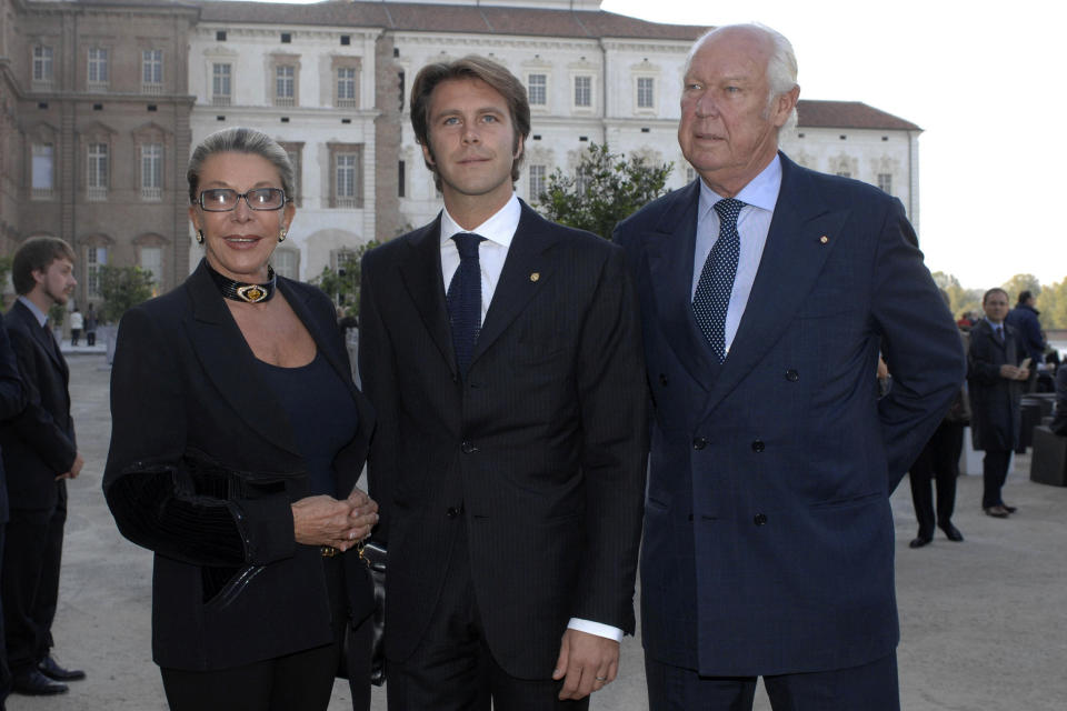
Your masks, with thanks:
[[[889,491],[915,462],[964,379],[959,334],[941,300],[904,206],[893,200],[881,224],[871,279],[871,310],[893,389],[878,401]]]

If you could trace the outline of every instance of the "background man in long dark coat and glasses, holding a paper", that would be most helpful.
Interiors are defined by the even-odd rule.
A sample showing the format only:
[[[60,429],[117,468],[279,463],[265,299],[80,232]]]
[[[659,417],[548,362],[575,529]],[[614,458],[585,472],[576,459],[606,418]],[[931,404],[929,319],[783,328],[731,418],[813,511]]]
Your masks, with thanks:
[[[967,349],[970,433],[974,448],[986,453],[981,460],[981,510],[1006,519],[1016,509],[1004,502],[1000,490],[1008,475],[1011,451],[1019,441],[1019,402],[1030,371],[1020,367],[1026,348],[1019,332],[1005,321],[1007,292],[990,289],[981,299],[981,308],[986,318],[970,330]]]

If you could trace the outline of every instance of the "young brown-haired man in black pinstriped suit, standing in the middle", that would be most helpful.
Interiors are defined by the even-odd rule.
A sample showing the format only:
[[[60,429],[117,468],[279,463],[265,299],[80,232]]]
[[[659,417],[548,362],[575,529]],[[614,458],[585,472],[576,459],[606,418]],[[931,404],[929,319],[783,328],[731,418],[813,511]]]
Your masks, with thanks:
[[[389,548],[390,711],[586,708],[634,631],[647,422],[621,250],[515,196],[521,82],[423,68],[445,209],[369,252],[360,373]]]

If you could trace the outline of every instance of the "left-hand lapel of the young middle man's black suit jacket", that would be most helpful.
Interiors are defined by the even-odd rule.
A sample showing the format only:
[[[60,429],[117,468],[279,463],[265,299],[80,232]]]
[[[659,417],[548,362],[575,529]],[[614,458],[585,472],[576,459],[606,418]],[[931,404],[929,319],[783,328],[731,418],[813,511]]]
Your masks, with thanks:
[[[458,374],[452,337],[445,303],[445,278],[441,276],[441,216],[411,234],[409,252],[400,264],[400,277],[422,324],[448,362],[452,374]]]

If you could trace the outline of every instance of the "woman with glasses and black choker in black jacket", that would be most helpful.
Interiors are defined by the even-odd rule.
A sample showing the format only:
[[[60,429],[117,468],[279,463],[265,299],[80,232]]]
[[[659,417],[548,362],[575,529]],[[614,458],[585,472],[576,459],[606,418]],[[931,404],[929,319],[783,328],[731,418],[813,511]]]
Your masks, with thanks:
[[[205,257],[122,318],[103,482],[123,535],[156,553],[167,699],[326,709],[351,634],[366,708],[372,595],[352,548],[378,519],[356,488],[373,415],[330,300],[270,267],[296,214],[292,167],[235,128],[196,148],[188,180]]]

